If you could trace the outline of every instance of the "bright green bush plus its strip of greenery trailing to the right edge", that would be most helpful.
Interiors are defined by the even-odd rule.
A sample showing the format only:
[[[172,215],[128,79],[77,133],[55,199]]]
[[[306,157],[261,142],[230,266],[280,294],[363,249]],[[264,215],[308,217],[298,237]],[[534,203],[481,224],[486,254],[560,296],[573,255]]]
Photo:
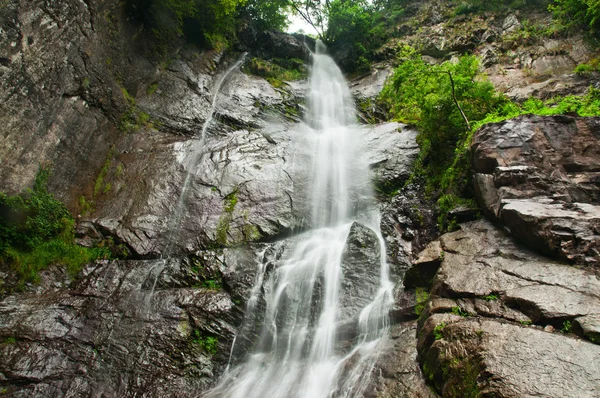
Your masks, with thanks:
[[[473,133],[483,124],[527,113],[600,115],[600,90],[593,87],[584,96],[545,102],[532,98],[517,104],[496,92],[479,74],[475,56],[429,65],[416,50],[405,46],[398,61],[380,101],[396,120],[419,129],[421,152],[413,178],[424,178],[427,192],[438,198],[438,224],[442,229],[455,227],[447,217],[451,209],[476,207],[469,192],[469,148]]]

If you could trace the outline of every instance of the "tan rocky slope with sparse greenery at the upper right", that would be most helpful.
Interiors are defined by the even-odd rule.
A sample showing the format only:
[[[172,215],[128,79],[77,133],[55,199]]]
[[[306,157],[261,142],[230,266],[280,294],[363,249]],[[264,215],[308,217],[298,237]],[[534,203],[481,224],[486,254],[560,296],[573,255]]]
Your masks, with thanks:
[[[595,50],[581,34],[553,32],[545,3],[483,7],[447,0],[408,1],[403,9],[395,37],[377,51],[381,59],[393,59],[402,44],[433,63],[476,54],[496,89],[519,102],[531,96],[583,94],[598,80],[597,73],[574,73],[578,64],[594,58]]]

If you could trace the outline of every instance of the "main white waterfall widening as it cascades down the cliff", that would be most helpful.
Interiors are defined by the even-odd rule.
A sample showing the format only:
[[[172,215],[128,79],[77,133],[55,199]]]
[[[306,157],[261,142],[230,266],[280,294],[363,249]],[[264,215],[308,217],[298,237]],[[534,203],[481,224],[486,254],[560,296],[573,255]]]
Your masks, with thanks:
[[[297,237],[280,267],[268,276],[259,270],[246,316],[256,316],[256,296],[262,291],[260,337],[245,362],[228,368],[206,397],[361,396],[386,333],[393,284],[388,279],[379,214],[371,199],[368,166],[360,160],[352,97],[321,43],[312,60],[303,144],[313,150],[308,170],[313,229]],[[343,312],[342,258],[355,221],[377,236],[380,259],[365,266],[377,268],[380,278],[370,302],[354,319],[357,337],[348,347],[339,344],[337,335]]]

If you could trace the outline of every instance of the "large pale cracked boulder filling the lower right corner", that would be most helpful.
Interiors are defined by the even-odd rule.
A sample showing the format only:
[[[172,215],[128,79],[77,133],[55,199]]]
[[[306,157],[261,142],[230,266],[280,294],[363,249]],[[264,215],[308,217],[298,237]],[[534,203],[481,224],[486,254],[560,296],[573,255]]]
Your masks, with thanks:
[[[418,352],[438,392],[600,393],[594,273],[535,254],[487,221],[463,224],[428,250],[435,246],[443,260],[419,320]]]

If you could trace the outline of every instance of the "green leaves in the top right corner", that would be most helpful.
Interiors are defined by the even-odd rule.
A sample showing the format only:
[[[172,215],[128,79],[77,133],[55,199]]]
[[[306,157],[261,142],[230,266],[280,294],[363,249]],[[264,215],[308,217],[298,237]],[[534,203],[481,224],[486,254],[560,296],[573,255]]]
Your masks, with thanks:
[[[566,28],[586,29],[600,33],[600,2],[598,0],[555,0],[548,9]]]

